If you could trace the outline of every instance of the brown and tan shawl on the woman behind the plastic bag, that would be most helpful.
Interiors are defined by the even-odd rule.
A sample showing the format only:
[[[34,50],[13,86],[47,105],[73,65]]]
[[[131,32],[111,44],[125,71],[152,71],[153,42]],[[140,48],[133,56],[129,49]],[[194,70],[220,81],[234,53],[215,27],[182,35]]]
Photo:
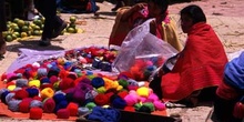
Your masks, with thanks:
[[[140,12],[134,12],[132,14],[132,18],[129,19],[128,21],[122,21],[121,18],[124,13],[130,8],[121,8],[118,11],[116,18],[115,18],[115,23],[113,26],[110,40],[109,40],[109,45],[114,44],[114,45],[121,45],[128,33],[133,29],[134,24],[143,23],[145,20],[149,19],[149,17],[140,16]],[[145,9],[146,10],[146,9]],[[144,12],[143,12],[144,13]],[[145,12],[148,13],[148,12]],[[142,21],[140,21],[140,20]],[[175,22],[173,21],[172,18],[166,16],[165,20],[162,21],[161,24],[157,24],[157,38],[161,38],[162,40],[169,42],[172,47],[174,47],[177,51],[182,50],[182,44],[177,39],[176,31],[175,31]],[[159,30],[161,32],[159,32]]]

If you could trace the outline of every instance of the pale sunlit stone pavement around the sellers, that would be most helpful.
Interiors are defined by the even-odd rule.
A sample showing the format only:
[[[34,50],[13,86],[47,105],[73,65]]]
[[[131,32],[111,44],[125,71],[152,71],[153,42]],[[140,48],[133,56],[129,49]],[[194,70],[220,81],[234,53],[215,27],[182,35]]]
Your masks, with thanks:
[[[179,21],[179,11],[186,4],[195,3],[203,8],[207,16],[207,22],[214,28],[218,34],[226,53],[236,52],[244,47],[244,12],[242,0],[202,0],[196,2],[176,3],[169,8],[171,16]],[[84,30],[83,33],[60,35],[52,41],[52,45],[42,48],[38,47],[38,40],[22,40],[8,43],[8,52],[6,58],[0,61],[0,73],[3,73],[8,67],[18,58],[18,50],[20,48],[28,48],[34,50],[67,50],[85,45],[108,45],[109,35],[114,23],[115,13],[110,10],[113,4],[109,2],[98,3],[100,7],[99,17],[93,13],[85,14],[61,14],[61,17],[69,21],[70,16],[77,16],[78,21],[83,24],[78,26]],[[179,24],[177,29],[182,42],[185,40],[185,34],[182,33]],[[216,49],[217,50],[217,49]],[[231,59],[231,58],[230,58]],[[169,113],[179,113],[183,122],[205,122],[211,106],[199,106],[194,109],[170,109]],[[0,119],[1,120],[1,119]],[[11,120],[9,120],[11,121]]]

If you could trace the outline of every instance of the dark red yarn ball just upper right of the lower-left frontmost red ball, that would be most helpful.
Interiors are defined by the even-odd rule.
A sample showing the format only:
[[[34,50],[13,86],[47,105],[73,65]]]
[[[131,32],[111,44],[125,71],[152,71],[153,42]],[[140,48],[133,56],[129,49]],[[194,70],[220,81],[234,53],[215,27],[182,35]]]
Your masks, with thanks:
[[[47,98],[43,101],[43,111],[45,113],[52,113],[55,109],[55,101],[52,98]]]

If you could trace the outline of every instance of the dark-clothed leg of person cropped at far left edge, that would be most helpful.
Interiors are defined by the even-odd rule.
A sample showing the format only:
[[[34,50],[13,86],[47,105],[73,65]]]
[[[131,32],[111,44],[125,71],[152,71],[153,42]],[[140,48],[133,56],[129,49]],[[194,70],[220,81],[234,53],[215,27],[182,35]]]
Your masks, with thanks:
[[[0,0],[0,59],[6,53],[6,40],[2,37],[2,32],[7,30],[4,1]]]

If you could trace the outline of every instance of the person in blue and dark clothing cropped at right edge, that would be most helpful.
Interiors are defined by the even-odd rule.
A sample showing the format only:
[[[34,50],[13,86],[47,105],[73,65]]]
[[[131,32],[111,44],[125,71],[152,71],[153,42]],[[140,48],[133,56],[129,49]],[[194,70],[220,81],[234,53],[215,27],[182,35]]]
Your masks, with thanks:
[[[214,122],[242,122],[244,118],[244,52],[230,61],[224,70],[224,79],[216,90]]]

